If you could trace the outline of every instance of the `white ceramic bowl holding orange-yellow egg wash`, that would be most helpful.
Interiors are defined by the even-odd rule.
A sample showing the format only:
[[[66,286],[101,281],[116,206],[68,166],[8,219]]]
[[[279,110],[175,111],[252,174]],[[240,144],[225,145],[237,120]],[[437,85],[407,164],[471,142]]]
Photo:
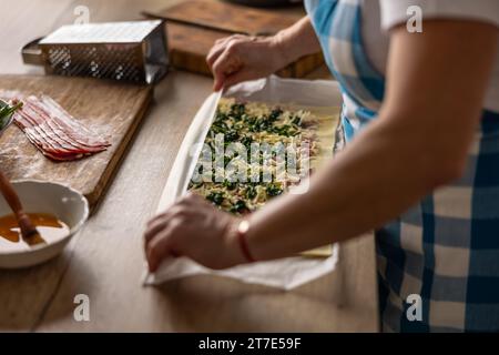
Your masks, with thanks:
[[[71,187],[35,180],[14,181],[12,185],[26,212],[53,214],[69,226],[70,232],[53,243],[37,245],[29,250],[0,248],[0,268],[32,266],[54,257],[62,252],[71,236],[81,229],[89,216],[86,199]],[[6,200],[0,195],[0,216],[11,213]]]

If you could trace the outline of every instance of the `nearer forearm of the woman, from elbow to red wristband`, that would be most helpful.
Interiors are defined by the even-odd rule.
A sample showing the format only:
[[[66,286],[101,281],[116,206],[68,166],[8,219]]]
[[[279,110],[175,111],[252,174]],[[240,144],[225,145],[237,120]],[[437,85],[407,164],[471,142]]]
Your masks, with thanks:
[[[380,120],[361,135],[310,178],[305,194],[283,196],[251,216],[247,237],[256,260],[293,255],[370,231],[454,178],[452,171],[439,171],[438,162],[427,158],[410,138],[414,132],[404,134]]]

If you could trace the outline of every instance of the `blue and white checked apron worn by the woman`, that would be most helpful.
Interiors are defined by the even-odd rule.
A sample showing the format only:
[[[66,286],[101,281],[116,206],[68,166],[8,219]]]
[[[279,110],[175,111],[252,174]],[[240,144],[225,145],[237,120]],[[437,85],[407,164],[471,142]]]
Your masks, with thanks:
[[[376,119],[385,92],[363,45],[361,2],[306,1],[342,85],[347,142]],[[499,331],[499,113],[483,110],[464,176],[376,231],[376,253],[384,332]],[[411,294],[420,321],[407,316]]]

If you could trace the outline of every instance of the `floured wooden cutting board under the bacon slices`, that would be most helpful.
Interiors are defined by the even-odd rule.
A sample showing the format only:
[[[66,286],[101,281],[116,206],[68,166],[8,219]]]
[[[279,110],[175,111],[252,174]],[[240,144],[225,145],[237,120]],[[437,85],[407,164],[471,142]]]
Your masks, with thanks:
[[[11,179],[38,179],[69,184],[92,207],[102,196],[152,98],[152,89],[83,78],[0,75],[0,91],[47,94],[111,146],[72,162],[47,159],[12,124],[0,136],[0,169]]]

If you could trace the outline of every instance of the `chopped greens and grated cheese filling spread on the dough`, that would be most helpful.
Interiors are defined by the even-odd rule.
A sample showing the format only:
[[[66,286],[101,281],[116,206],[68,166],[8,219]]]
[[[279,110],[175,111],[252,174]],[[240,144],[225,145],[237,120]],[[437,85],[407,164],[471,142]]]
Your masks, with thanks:
[[[231,143],[243,144],[247,151],[246,159],[238,156],[237,152],[227,153],[224,155],[224,168],[227,170],[228,163],[232,162],[236,166],[245,164],[242,169],[248,172],[246,181],[230,181],[225,179],[223,182],[210,181],[194,182],[191,181],[189,190],[204,196],[220,209],[234,213],[246,214],[259,209],[268,200],[278,196],[289,190],[291,186],[297,185],[301,182],[302,166],[313,166],[312,162],[319,155],[319,146],[317,142],[316,131],[318,129],[318,118],[310,111],[306,110],[286,110],[277,105],[268,105],[258,102],[240,102],[234,99],[222,99],[218,103],[214,122],[205,139],[205,144],[210,146],[213,155],[215,153],[215,136],[220,133],[224,136],[224,146]],[[333,140],[333,138],[332,138]],[[294,156],[294,166],[296,169],[292,172],[286,170],[284,179],[276,179],[275,171],[272,172],[272,181],[263,179],[263,169],[257,173],[258,179],[252,179],[252,162],[249,152],[253,143],[268,143],[271,146],[276,146],[276,143],[282,143],[282,149],[292,145],[297,149]],[[309,156],[305,155],[307,161],[304,164],[303,155],[299,152],[302,143],[307,143],[309,146]],[[273,151],[275,153],[275,151]],[[269,162],[269,166],[275,168],[277,162],[276,154],[265,155],[259,154],[259,166],[264,159]],[[287,166],[288,155],[285,163]],[[213,158],[214,160],[215,158]],[[202,165],[201,158],[196,169]],[[213,170],[213,176],[215,176]],[[306,172],[306,174],[309,173]],[[283,178],[283,176],[282,176]]]

